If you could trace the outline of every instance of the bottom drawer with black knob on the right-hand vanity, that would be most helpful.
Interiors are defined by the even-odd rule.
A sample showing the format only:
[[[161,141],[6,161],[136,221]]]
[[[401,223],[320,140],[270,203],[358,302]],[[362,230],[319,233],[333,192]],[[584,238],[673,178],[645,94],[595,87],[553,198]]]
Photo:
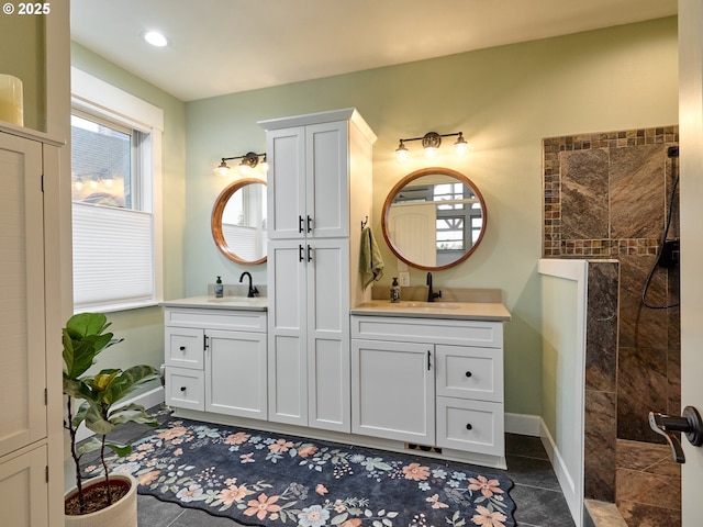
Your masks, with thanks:
[[[503,404],[437,397],[437,446],[503,456]]]

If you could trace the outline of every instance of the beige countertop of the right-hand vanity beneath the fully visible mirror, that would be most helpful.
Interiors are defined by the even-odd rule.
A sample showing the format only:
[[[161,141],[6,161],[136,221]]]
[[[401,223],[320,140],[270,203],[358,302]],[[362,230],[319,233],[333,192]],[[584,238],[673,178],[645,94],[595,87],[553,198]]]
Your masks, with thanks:
[[[500,302],[408,302],[372,300],[357,305],[353,315],[410,316],[465,321],[510,321],[510,312]]]

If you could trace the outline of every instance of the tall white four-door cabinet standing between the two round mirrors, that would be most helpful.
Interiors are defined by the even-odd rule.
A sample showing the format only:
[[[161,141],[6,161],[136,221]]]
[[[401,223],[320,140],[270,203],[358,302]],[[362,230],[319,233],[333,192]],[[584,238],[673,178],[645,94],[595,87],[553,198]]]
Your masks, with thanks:
[[[355,109],[258,124],[270,167],[269,421],[348,433],[349,309],[365,300],[376,135]]]

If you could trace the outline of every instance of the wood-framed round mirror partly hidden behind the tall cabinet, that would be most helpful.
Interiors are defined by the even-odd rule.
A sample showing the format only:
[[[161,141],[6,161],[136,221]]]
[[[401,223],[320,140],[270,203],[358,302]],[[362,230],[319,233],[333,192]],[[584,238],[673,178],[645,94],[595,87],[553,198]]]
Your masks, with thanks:
[[[238,179],[217,197],[212,209],[212,237],[232,261],[254,266],[266,261],[266,182]]]

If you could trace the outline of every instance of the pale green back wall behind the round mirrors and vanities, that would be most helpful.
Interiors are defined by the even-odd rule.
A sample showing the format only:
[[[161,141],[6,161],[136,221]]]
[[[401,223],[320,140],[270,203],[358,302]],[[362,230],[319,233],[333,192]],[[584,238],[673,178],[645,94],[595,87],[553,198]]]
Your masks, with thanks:
[[[203,294],[216,274],[235,282],[243,270],[266,281],[265,266],[231,262],[210,235],[212,205],[227,184],[212,169],[221,157],[265,149],[257,121],[356,106],[379,137],[373,229],[381,245],[386,194],[404,175],[428,166],[421,156],[398,164],[398,139],[462,131],[470,154],[447,154],[432,165],[464,172],[479,187],[488,228],[466,262],[434,273],[435,284],[503,291],[512,313],[505,326],[506,411],[540,415],[542,138],[676,124],[677,45],[677,19],[669,18],[188,102],[186,294]],[[416,143],[408,146],[417,149]],[[382,250],[386,289],[397,276],[395,261]],[[411,284],[423,285],[424,272],[413,271]]]

